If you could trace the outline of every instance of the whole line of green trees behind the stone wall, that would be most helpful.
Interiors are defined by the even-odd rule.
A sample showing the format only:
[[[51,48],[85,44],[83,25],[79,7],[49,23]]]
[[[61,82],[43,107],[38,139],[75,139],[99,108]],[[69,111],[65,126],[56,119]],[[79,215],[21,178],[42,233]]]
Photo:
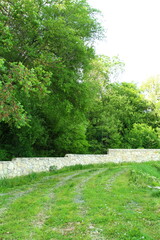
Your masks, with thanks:
[[[97,56],[98,11],[85,0],[0,3],[0,160],[160,148],[160,116]]]

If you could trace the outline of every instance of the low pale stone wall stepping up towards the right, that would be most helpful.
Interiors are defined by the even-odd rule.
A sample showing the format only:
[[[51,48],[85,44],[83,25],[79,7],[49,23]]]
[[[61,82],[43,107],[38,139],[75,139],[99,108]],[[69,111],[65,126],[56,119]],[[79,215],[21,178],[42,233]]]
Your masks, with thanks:
[[[58,158],[15,158],[12,161],[0,161],[0,178],[49,171],[53,165],[60,169],[76,164],[133,161],[160,161],[160,149],[109,149],[106,155],[67,154]]]

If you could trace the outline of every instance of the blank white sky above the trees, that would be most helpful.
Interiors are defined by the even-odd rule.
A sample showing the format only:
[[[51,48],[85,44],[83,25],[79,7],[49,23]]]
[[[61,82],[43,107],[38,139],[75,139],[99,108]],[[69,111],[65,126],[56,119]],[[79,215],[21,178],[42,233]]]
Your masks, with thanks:
[[[119,56],[125,71],[119,81],[141,84],[160,74],[160,0],[88,0],[101,10],[106,39],[97,54]]]

